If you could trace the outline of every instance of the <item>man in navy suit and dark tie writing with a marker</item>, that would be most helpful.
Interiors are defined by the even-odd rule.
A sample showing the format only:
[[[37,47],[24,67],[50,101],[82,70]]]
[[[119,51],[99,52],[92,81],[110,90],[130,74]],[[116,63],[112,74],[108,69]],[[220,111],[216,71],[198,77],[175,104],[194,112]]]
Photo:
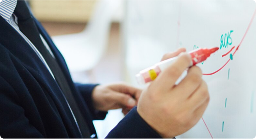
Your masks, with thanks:
[[[169,53],[164,59],[180,55]],[[86,54],[85,54],[86,55]],[[0,137],[97,138],[92,124],[111,109],[128,113],[107,138],[174,138],[209,103],[200,68],[188,54],[142,92],[124,84],[74,84],[65,60],[24,0],[0,2]],[[138,104],[138,107],[135,105]]]

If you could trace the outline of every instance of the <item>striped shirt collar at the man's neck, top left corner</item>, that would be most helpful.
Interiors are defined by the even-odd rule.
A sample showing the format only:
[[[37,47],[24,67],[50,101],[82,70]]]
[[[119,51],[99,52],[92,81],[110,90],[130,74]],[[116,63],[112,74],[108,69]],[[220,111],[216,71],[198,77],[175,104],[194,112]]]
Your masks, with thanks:
[[[17,0],[2,0],[0,2],[0,16],[9,20],[16,8]]]

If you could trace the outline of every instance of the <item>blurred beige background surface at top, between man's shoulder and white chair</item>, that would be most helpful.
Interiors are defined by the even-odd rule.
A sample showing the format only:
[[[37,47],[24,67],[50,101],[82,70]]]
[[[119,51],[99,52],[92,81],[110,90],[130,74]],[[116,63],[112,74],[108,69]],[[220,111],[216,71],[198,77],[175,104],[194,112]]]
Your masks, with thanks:
[[[97,0],[30,0],[31,9],[42,22],[86,23]]]

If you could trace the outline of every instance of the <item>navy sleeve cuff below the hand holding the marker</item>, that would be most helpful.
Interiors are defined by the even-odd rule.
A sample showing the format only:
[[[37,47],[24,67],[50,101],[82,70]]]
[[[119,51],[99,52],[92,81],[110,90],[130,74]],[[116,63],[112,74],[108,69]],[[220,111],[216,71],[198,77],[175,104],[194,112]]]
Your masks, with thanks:
[[[162,137],[141,118],[135,107],[112,129],[106,139],[162,139]]]

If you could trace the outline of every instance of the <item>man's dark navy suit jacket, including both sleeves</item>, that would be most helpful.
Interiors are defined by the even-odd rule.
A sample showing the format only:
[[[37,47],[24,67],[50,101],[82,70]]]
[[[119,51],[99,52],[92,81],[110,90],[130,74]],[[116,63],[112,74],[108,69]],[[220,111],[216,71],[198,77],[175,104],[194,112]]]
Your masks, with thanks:
[[[89,132],[96,135],[92,120],[104,119],[91,94],[96,84],[74,84],[66,62],[43,26],[39,32],[56,57],[79,104]],[[85,54],[86,55],[86,54]],[[0,137],[82,138],[58,84],[33,49],[0,17]],[[97,136],[92,136],[97,138]],[[136,107],[107,138],[161,138],[139,116]]]

